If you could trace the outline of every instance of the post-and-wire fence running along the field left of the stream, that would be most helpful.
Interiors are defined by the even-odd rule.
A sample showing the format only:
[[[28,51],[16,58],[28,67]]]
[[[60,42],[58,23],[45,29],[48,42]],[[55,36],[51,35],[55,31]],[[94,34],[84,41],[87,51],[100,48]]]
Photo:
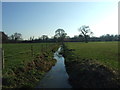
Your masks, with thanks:
[[[19,63],[22,61],[27,61],[30,59],[34,59],[38,54],[40,55],[43,52],[50,52],[52,50],[52,47],[54,44],[31,44],[28,45],[26,48],[20,50],[21,48],[18,47],[17,49],[8,48],[11,49],[10,51],[6,53],[6,50],[2,49],[2,69],[5,68],[5,62],[13,62],[14,60],[19,60]],[[13,47],[14,48],[14,47]],[[16,47],[15,47],[16,48]],[[5,47],[4,47],[5,49]],[[19,51],[17,51],[19,50]],[[12,63],[11,63],[12,64]],[[8,65],[8,64],[7,64]]]

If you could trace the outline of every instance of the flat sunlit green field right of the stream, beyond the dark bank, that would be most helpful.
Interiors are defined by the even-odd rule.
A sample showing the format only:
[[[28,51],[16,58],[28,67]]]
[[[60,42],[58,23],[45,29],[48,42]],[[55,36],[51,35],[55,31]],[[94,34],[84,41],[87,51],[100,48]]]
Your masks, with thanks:
[[[97,60],[113,69],[118,69],[118,42],[68,42],[69,49],[75,49],[74,54],[80,58]]]

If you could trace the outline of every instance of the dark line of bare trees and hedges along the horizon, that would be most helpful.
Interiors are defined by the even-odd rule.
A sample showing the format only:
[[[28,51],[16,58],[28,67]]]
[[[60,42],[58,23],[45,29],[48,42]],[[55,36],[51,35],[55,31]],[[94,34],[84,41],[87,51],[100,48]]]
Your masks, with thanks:
[[[23,40],[21,33],[14,33],[7,37],[6,41],[8,43],[37,43],[37,42],[86,42],[89,41],[120,41],[120,35],[110,35],[105,34],[100,37],[94,37],[93,32],[90,30],[89,26],[83,25],[79,29],[80,34],[74,35],[74,37],[67,36],[67,33],[65,33],[65,30],[63,29],[57,29],[55,31],[55,35],[51,38],[49,38],[47,35],[42,35],[41,37],[34,38],[30,37],[29,40]]]

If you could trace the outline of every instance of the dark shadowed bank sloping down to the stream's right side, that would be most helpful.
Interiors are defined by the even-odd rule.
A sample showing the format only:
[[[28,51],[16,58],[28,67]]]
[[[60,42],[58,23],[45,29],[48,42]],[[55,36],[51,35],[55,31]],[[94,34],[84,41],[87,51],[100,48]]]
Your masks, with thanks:
[[[95,60],[81,59],[64,46],[66,70],[73,88],[119,88],[117,71]]]

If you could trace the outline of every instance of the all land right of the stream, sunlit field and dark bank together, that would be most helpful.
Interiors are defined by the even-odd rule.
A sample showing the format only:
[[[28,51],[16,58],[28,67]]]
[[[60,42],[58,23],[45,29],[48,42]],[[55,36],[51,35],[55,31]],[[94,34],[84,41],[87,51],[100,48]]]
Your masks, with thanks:
[[[120,87],[118,42],[65,43],[64,49],[74,88]]]

